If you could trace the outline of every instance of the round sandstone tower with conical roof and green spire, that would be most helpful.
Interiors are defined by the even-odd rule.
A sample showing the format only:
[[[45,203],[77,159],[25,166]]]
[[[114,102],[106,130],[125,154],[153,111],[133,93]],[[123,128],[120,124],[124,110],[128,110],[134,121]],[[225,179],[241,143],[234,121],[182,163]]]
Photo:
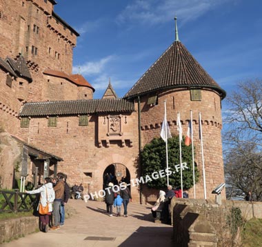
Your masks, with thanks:
[[[177,113],[180,112],[185,136],[192,111],[194,162],[200,173],[196,198],[214,199],[212,190],[225,181],[221,141],[221,100],[225,91],[179,41],[177,22],[175,29],[175,41],[125,97],[139,104],[141,148],[154,137],[160,137],[165,101],[167,121],[175,135],[179,135]],[[202,139],[199,138],[199,115]],[[190,198],[194,198],[192,188],[189,192]],[[225,190],[222,197],[225,199]]]

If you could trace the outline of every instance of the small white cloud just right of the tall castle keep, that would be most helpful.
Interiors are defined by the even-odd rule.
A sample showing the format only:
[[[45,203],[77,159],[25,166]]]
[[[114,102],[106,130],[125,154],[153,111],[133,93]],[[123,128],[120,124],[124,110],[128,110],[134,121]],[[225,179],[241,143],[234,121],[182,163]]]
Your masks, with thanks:
[[[111,61],[114,56],[108,56],[100,59],[99,61],[86,62],[83,65],[74,66],[73,73],[78,73],[82,75],[94,75],[103,72],[103,69],[109,61]]]

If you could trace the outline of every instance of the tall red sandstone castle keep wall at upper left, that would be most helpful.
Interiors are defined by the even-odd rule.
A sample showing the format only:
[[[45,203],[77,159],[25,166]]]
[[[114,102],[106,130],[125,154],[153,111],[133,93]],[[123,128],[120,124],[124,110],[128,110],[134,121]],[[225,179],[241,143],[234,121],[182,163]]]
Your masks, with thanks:
[[[0,0],[0,57],[14,59],[22,52],[28,61],[33,78],[28,101],[45,100],[42,89],[46,81],[42,72],[46,68],[72,73],[72,48],[77,37],[50,15],[52,8],[50,1]],[[37,54],[32,54],[32,46],[37,48]]]

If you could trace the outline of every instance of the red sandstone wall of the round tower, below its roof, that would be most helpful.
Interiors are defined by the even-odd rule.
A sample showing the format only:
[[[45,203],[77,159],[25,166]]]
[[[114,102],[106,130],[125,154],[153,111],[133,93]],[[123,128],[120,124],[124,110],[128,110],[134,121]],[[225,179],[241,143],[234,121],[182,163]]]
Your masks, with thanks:
[[[196,152],[194,159],[200,172],[199,184],[196,185],[196,197],[203,198],[203,169],[201,141],[199,140],[199,112],[201,112],[207,198],[214,198],[214,195],[211,194],[212,190],[224,182],[220,97],[215,92],[208,90],[202,90],[201,95],[201,101],[191,101],[189,90],[159,92],[157,106],[147,105],[148,97],[141,98],[142,145],[144,146],[154,137],[160,136],[161,123],[164,117],[164,101],[167,102],[167,120],[173,135],[179,135],[177,131],[177,112],[181,112],[183,135],[185,136],[188,129],[188,120],[190,120],[190,110],[192,110],[194,148]],[[190,190],[190,197],[193,197],[192,189]],[[223,197],[225,197],[225,192],[223,192]]]

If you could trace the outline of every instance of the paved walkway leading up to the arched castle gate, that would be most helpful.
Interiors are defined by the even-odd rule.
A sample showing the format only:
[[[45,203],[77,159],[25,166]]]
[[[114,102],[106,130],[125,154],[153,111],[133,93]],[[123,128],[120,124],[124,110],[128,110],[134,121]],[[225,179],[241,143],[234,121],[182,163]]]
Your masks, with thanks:
[[[77,214],[66,219],[65,226],[59,230],[33,233],[1,247],[172,246],[172,226],[155,224],[150,207],[131,202],[125,218],[106,215],[105,203],[101,201],[85,203],[70,199],[68,205]]]

